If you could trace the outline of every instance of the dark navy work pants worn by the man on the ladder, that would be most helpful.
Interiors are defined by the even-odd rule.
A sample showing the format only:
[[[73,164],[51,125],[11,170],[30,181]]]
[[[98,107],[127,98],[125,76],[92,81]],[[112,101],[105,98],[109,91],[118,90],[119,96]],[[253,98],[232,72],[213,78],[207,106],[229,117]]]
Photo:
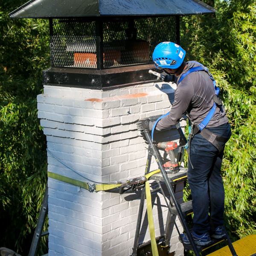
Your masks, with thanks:
[[[230,124],[208,128],[209,131],[230,138]],[[225,143],[220,143],[223,148]],[[202,234],[209,231],[210,219],[215,227],[223,225],[224,215],[224,186],[221,177],[221,163],[224,152],[218,154],[217,148],[205,140],[200,133],[195,134],[190,145],[188,182],[192,194],[194,212],[193,230]]]

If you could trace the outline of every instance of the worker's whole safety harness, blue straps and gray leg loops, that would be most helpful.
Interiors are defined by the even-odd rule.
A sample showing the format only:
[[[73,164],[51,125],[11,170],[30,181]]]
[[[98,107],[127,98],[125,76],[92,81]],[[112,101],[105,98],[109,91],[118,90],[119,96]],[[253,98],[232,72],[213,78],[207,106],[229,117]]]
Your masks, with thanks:
[[[204,120],[199,124],[199,125],[194,125],[194,123],[191,122],[191,118],[189,116],[189,114],[187,115],[189,118],[189,137],[188,137],[188,143],[186,145],[185,148],[189,148],[189,153],[190,153],[190,143],[191,143],[191,139],[192,137],[197,134],[198,132],[200,132],[200,134],[202,135],[202,137],[204,137],[207,141],[209,141],[209,143],[212,143],[212,145],[215,146],[215,148],[218,149],[219,153],[221,151],[223,151],[223,147],[219,142],[223,142],[226,143],[228,141],[228,138],[224,138],[221,136],[218,136],[216,134],[214,134],[213,132],[204,129],[207,124],[209,123],[210,119],[212,118],[212,116],[214,115],[216,106],[218,106],[219,108],[221,108],[222,106],[222,102],[221,99],[218,97],[219,91],[220,89],[216,86],[216,81],[213,78],[212,74],[209,72],[209,70],[207,69],[207,67],[204,67],[201,63],[197,62],[197,61],[189,61],[189,63],[196,63],[199,64],[199,67],[192,67],[191,69],[189,69],[186,73],[184,73],[181,77],[180,80],[178,81],[178,84],[190,73],[192,72],[196,72],[196,71],[205,71],[207,72],[207,74],[209,75],[210,79],[212,79],[213,82],[213,86],[214,86],[214,90],[215,90],[215,95],[213,96],[213,100],[214,100],[214,104],[211,108],[211,110],[209,111],[209,113],[207,114],[207,116],[204,118]],[[178,85],[177,84],[177,85]],[[170,112],[169,112],[170,113]],[[157,125],[157,122],[162,119],[163,117],[167,116],[169,113],[166,113],[163,116],[160,116],[157,121],[154,123],[153,129],[152,129],[152,133],[151,133],[151,137],[153,140],[153,134],[154,134],[154,129]],[[193,167],[193,166],[192,166]],[[193,168],[194,169],[194,168]]]

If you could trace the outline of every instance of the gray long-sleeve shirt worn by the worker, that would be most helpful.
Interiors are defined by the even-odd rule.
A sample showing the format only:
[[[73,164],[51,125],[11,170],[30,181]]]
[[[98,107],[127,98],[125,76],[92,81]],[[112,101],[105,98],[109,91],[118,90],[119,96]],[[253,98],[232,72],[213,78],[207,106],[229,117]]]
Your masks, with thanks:
[[[198,67],[196,63],[187,63],[186,69],[177,77],[177,84],[180,77],[192,67]],[[169,115],[161,119],[156,126],[157,130],[163,130],[172,125],[176,125],[187,111],[195,125],[199,125],[211,110],[215,94],[214,85],[207,72],[192,72],[178,84],[175,90],[174,103]],[[217,127],[228,122],[225,109],[216,108],[214,115],[207,124],[206,128]]]

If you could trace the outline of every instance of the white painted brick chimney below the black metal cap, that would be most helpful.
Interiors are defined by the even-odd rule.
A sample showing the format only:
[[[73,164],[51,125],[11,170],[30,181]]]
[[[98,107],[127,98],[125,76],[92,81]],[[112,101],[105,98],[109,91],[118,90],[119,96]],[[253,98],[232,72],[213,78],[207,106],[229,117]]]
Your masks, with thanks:
[[[47,148],[94,180],[140,177],[145,172],[147,145],[135,123],[146,116],[167,113],[175,87],[162,82],[112,90],[44,86],[44,94],[38,95],[38,118],[47,135]],[[155,134],[157,138],[178,142],[179,135],[171,128]],[[157,164],[152,161],[151,171],[155,169]],[[50,154],[48,171],[82,179]],[[91,193],[52,178],[48,186],[49,256],[131,255],[140,194]],[[180,183],[176,189],[180,202],[182,190]],[[152,200],[157,237],[163,235],[167,207],[160,193],[153,194]],[[145,210],[139,243],[150,240]],[[182,231],[179,221],[177,224]],[[170,234],[170,252],[182,256],[175,227]]]

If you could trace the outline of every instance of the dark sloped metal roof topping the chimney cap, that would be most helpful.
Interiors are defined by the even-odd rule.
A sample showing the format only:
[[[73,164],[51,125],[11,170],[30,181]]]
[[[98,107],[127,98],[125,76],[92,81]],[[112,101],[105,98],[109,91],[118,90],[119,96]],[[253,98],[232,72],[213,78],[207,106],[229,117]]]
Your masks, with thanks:
[[[213,13],[200,0],[30,0],[11,18],[74,18],[97,16],[169,16]]]

